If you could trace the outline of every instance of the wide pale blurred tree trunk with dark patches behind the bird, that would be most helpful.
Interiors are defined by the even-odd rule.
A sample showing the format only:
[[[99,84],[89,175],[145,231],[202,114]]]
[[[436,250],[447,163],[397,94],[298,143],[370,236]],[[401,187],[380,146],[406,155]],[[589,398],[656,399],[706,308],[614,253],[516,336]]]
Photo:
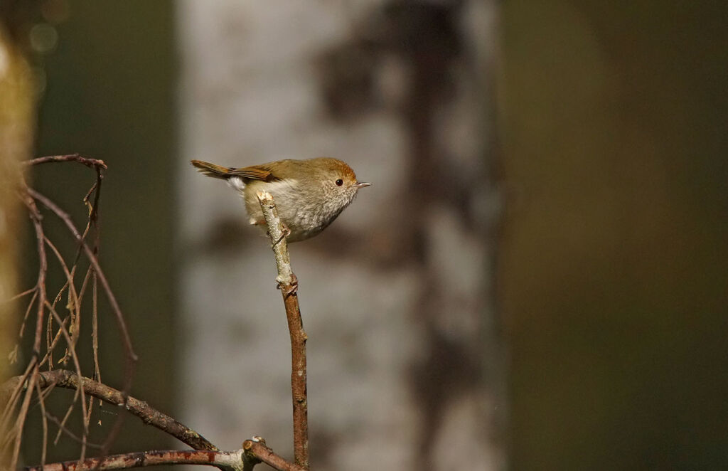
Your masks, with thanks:
[[[362,457],[376,456],[384,469],[504,469],[489,113],[496,2],[180,4],[184,160],[329,155],[374,184],[292,249],[311,338],[312,465],[363,470]],[[180,168],[181,293],[195,332],[181,359],[189,415],[222,440],[244,423],[288,443],[288,385],[246,379],[289,373],[271,348],[288,340],[271,327],[280,300],[260,276],[270,252],[228,189]],[[255,334],[241,342],[229,332]],[[231,386],[219,351],[265,361],[240,362]]]

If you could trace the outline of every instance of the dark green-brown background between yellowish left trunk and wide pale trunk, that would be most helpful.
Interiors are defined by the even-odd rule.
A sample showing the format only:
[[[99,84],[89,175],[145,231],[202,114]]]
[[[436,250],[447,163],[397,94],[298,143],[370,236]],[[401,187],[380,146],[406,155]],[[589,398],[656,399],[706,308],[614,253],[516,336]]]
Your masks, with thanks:
[[[65,2],[48,3],[63,8]],[[57,25],[58,47],[43,61],[47,85],[39,109],[36,154],[78,152],[107,163],[100,199],[100,262],[122,305],[140,358],[132,395],[174,415],[173,4],[69,1],[64,10],[67,15],[60,12],[63,21]],[[34,169],[32,179],[39,191],[73,212],[77,224],[84,221],[87,214],[81,200],[94,182],[92,171],[73,164],[51,164]],[[73,253],[73,245],[62,231],[53,240],[65,241],[70,248],[66,253]],[[30,268],[28,283],[35,270]],[[120,388],[123,349],[111,311],[103,296],[100,299],[101,375],[104,383]],[[90,350],[79,351],[90,359]],[[114,409],[103,406],[98,415],[102,427],[91,427],[91,441],[103,441],[116,420]],[[65,408],[58,408],[60,416],[64,412]],[[51,447],[50,457],[55,456],[54,451],[62,459],[77,456],[76,444],[68,439],[60,443],[64,441],[70,450]],[[164,434],[130,416],[113,452],[172,445]],[[38,444],[31,445],[37,449],[33,446]]]

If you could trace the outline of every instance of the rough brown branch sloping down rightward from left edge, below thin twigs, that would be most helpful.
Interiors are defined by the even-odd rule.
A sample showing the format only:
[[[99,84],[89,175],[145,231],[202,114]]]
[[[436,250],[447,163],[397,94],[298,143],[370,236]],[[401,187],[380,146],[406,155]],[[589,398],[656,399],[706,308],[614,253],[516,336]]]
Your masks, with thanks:
[[[0,400],[4,395],[17,387],[17,384],[23,381],[23,376],[15,376],[10,378],[0,389]],[[60,386],[67,389],[79,389],[79,375],[74,371],[68,370],[52,370],[39,373],[38,381],[41,388],[48,386]],[[93,381],[90,378],[82,377],[82,389],[86,394],[98,397],[100,400],[109,402],[110,404],[124,406],[130,413],[137,416],[145,424],[167,432],[183,443],[191,446],[195,450],[218,451],[218,448],[208,442],[205,437],[199,433],[184,426],[175,419],[167,416],[165,413],[159,412],[149,406],[146,402],[126,396],[118,389],[114,389],[106,384]]]

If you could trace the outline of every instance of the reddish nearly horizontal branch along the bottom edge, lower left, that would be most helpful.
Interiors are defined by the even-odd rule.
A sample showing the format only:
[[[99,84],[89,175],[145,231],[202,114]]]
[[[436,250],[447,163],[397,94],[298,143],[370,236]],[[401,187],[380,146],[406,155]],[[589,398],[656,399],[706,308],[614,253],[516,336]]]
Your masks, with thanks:
[[[26,467],[26,471],[106,471],[125,470],[132,467],[157,466],[160,464],[205,464],[222,470],[247,471],[242,450],[237,451],[139,451],[111,456],[98,456],[82,461],[46,464]],[[248,468],[250,469],[250,468]]]

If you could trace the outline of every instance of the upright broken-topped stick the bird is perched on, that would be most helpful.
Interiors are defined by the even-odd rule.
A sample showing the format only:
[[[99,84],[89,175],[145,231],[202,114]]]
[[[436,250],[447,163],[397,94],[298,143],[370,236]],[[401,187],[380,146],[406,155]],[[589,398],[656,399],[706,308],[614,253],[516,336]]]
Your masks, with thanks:
[[[268,236],[272,241],[275,263],[278,268],[278,287],[283,295],[285,315],[290,332],[291,373],[290,389],[293,394],[293,456],[296,464],[304,470],[309,469],[309,422],[308,400],[306,398],[306,332],[298,307],[298,281],[290,268],[286,230],[283,227],[278,209],[269,192],[258,192],[263,215],[268,225]]]

